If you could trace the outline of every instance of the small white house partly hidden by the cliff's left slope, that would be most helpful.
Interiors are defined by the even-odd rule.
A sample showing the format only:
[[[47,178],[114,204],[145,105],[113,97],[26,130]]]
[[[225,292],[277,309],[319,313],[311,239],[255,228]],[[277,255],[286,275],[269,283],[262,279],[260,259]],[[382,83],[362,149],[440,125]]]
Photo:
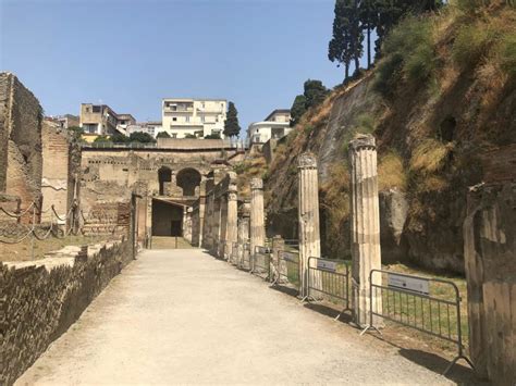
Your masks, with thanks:
[[[271,138],[282,138],[291,132],[291,111],[278,109],[263,121],[255,122],[247,128],[247,139],[250,144],[265,144]]]

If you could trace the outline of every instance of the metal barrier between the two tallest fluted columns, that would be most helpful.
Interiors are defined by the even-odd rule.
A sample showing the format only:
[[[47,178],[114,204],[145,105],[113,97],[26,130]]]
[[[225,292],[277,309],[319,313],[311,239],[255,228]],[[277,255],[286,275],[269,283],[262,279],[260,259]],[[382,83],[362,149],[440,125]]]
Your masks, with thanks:
[[[339,320],[349,307],[349,264],[343,260],[309,258],[306,299],[330,300],[343,303],[344,309],[336,315]],[[319,297],[312,296],[315,291]],[[329,298],[329,299],[327,299]]]

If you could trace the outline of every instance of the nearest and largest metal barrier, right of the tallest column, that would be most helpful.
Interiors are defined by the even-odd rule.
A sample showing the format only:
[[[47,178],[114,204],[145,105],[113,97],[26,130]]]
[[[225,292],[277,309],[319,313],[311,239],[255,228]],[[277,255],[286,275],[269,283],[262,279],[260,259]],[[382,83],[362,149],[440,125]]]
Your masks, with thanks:
[[[383,284],[383,279],[386,285]],[[443,375],[459,359],[464,359],[471,369],[475,369],[469,358],[464,353],[460,324],[462,299],[455,283],[441,278],[371,270],[369,284],[370,321],[361,334],[370,328],[377,329],[372,321],[373,316],[380,316],[455,344],[457,356],[449,364]],[[446,291],[453,294],[453,299],[439,296],[439,294],[446,294]],[[379,299],[381,299],[381,303]]]

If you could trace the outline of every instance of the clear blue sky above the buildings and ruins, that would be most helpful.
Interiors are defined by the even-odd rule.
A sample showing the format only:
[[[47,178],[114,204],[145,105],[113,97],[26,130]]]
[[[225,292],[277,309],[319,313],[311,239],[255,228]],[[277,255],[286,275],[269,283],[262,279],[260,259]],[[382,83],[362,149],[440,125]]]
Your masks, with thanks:
[[[307,78],[333,87],[334,0],[0,0],[0,69],[46,114],[102,102],[161,120],[161,98],[234,101],[243,130],[290,108]]]

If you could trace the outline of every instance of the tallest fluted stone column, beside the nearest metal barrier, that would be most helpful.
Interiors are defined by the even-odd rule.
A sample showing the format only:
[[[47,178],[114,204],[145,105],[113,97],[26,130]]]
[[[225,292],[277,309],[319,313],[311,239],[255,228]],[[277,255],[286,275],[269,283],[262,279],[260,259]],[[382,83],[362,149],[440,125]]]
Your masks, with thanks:
[[[371,135],[357,135],[349,142],[351,164],[351,228],[353,260],[352,303],[355,322],[371,324],[369,274],[381,269],[380,211],[378,199],[377,147]],[[381,283],[381,275],[373,279]],[[381,312],[381,297],[373,298],[376,310]],[[372,325],[381,326],[374,317]]]

